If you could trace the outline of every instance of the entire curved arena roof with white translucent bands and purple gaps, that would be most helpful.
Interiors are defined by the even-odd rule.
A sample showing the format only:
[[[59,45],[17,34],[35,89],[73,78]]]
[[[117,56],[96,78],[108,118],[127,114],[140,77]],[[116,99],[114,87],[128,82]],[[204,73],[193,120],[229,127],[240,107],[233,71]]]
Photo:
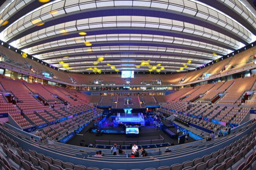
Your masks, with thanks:
[[[255,11],[240,0],[9,0],[1,7],[2,40],[74,72],[193,70],[256,34]]]

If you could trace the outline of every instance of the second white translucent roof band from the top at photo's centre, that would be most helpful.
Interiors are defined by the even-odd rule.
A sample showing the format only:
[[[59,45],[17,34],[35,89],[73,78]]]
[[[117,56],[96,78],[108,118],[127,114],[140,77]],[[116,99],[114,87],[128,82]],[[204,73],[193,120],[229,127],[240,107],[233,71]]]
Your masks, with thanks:
[[[104,19],[105,17],[97,17],[97,20],[102,20],[102,21],[105,21]],[[220,34],[216,31],[213,31],[213,30],[210,30],[208,28],[204,28],[204,27],[201,27],[201,26],[196,26],[194,24],[186,24],[185,22],[180,22],[180,21],[176,21],[176,20],[169,20],[169,23],[172,23],[172,24],[169,24],[169,23],[161,23],[161,20],[158,20],[158,22],[153,22],[153,20],[156,20],[158,18],[155,18],[155,17],[141,17],[139,16],[140,19],[142,20],[145,20],[146,18],[148,18],[148,20],[150,22],[141,22],[139,21],[139,18],[136,18],[134,16],[130,17],[132,19],[131,23],[132,25],[136,26],[136,27],[139,27],[139,28],[158,28],[160,25],[168,25],[169,28],[171,28],[170,30],[171,31],[178,31],[178,32],[183,32],[183,33],[186,33],[188,32],[188,30],[190,30],[190,34],[194,34],[194,35],[198,35],[198,33],[201,33],[200,36],[202,36],[203,38],[209,38],[209,39],[212,39],[212,40],[216,40],[216,41],[220,41],[220,42],[228,42],[226,43],[227,45],[230,45],[234,48],[238,48],[239,47],[239,42],[228,37],[228,36],[225,36],[225,37],[221,37],[220,35],[223,35],[223,34]],[[134,21],[133,19],[135,18],[136,21]],[[109,19],[109,18],[108,18]],[[84,22],[81,22],[80,20],[77,20],[77,21],[73,21],[73,22],[67,22],[67,23],[62,23],[62,24],[58,24],[58,25],[55,25],[55,26],[51,26],[51,27],[48,27],[48,28],[44,28],[42,30],[39,30],[37,32],[34,32],[34,33],[31,33],[33,34],[33,36],[31,36],[31,38],[26,38],[25,37],[25,40],[23,38],[20,38],[16,41],[16,44],[17,45],[22,45],[22,46],[25,46],[25,45],[28,45],[28,43],[26,41],[28,41],[29,39],[33,39],[33,42],[35,41],[40,41],[42,39],[42,37],[50,37],[52,35],[59,35],[61,36],[62,34],[66,34],[66,33],[69,33],[69,30],[70,31],[75,31],[78,32],[78,31],[83,31],[85,28],[84,27],[81,27],[81,26],[86,26],[86,27],[89,27],[89,28],[112,28],[112,27],[118,27],[117,25],[117,21],[116,21],[116,18],[112,18],[114,20],[112,21],[108,21],[108,22],[100,22],[100,23],[97,23],[95,24],[95,20],[94,18],[90,18],[89,20],[89,23],[84,23]],[[75,25],[75,22],[76,22],[76,27],[74,26]],[[93,23],[92,23],[93,22]],[[105,24],[106,23],[106,24]],[[107,25],[108,24],[112,24],[112,25]],[[130,23],[126,23],[127,25],[125,26],[130,26]],[[185,27],[184,27],[185,25]],[[186,27],[188,26],[188,27]],[[119,26],[119,27],[122,27],[122,26]],[[54,30],[53,30],[54,28]],[[184,29],[186,28],[186,29]],[[194,29],[193,29],[194,28]],[[162,28],[162,29],[165,29],[165,28]],[[168,30],[168,28],[167,28]],[[54,34],[50,34],[51,32],[54,32]],[[12,33],[10,33],[12,34]],[[214,35],[214,36],[213,36]],[[22,41],[24,40],[24,41]],[[21,46],[20,46],[21,47]]]

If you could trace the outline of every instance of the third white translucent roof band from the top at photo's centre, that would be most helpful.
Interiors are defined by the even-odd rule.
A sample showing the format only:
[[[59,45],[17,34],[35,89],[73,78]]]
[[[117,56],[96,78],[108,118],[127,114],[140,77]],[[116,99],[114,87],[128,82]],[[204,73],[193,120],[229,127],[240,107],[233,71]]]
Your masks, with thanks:
[[[28,40],[30,40],[30,37],[28,37]],[[212,50],[214,52],[227,54],[228,49],[212,45],[209,43],[184,39],[184,38],[176,38],[176,37],[170,37],[170,36],[153,36],[148,34],[105,34],[105,35],[97,35],[97,36],[80,36],[75,38],[68,38],[63,40],[58,40],[54,42],[48,42],[40,45],[36,45],[33,47],[30,47],[26,49],[29,54],[36,53],[43,49],[50,49],[52,47],[62,47],[65,45],[70,44],[81,44],[84,42],[105,42],[105,41],[148,41],[148,42],[168,42],[168,43],[174,43],[174,44],[181,44],[181,45],[189,45],[192,47],[199,47],[203,49]],[[28,43],[28,42],[26,42]],[[20,47],[21,44],[18,44],[18,47]]]

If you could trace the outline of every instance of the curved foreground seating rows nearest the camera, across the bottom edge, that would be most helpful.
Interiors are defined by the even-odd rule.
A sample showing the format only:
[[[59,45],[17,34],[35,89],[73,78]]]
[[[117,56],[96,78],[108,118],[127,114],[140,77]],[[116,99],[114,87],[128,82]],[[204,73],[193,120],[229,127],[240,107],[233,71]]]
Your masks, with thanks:
[[[171,154],[157,154],[151,155],[150,157],[135,159],[126,158],[118,155],[116,157],[113,157],[109,154],[110,150],[108,149],[102,150],[105,156],[94,157],[91,156],[91,154],[94,154],[94,150],[90,150],[90,148],[77,146],[77,148],[73,148],[68,145],[48,144],[39,141],[33,141],[30,140],[29,137],[24,136],[23,134],[20,134],[5,126],[1,126],[1,148],[3,150],[4,156],[6,156],[5,158],[1,157],[1,161],[3,162],[1,163],[4,167],[6,166],[11,168],[11,166],[16,166],[17,169],[19,168],[19,166],[27,169],[52,169],[54,167],[58,167],[60,169],[77,169],[78,166],[80,169],[85,169],[85,167],[87,169],[91,169],[90,167],[98,167],[96,169],[114,169],[113,167],[120,167],[117,163],[121,161],[123,162],[123,169],[129,169],[129,166],[130,169],[136,168],[140,170],[150,167],[152,169],[158,168],[159,170],[180,170],[183,168],[195,170],[207,168],[215,170],[228,169],[230,167],[236,168],[240,167],[241,165],[244,166],[245,164],[250,164],[254,167],[255,164],[253,164],[253,162],[251,161],[254,160],[253,157],[255,156],[255,126],[255,123],[250,123],[246,125],[245,128],[240,128],[228,136],[216,138],[215,140],[209,142],[204,140],[200,143],[194,143],[193,145],[183,144],[180,145],[180,147],[178,148],[170,147],[172,149]],[[59,130],[62,129],[59,125],[54,128]],[[49,128],[48,131],[50,132]],[[22,136],[22,138],[18,139],[15,134]],[[23,145],[24,142],[27,143],[26,146]],[[26,148],[30,148],[29,150],[23,150],[25,148],[20,148],[20,145]],[[80,151],[82,149],[83,152],[79,152],[79,149]],[[164,153],[163,151],[165,150],[165,148],[160,148],[160,150],[162,150],[162,153]],[[204,154],[202,154],[202,152],[204,152]],[[148,154],[152,153],[152,150],[148,149]],[[84,157],[84,159],[81,159],[79,157],[82,157],[82,154],[86,154],[88,156]],[[76,155],[78,157],[72,158],[72,155]],[[186,158],[184,157],[184,155],[186,155]],[[182,156],[182,159],[179,159],[180,156]],[[70,160],[65,160],[66,157]],[[152,158],[156,159],[159,163],[162,163],[154,164]],[[22,162],[25,162],[26,164]]]

